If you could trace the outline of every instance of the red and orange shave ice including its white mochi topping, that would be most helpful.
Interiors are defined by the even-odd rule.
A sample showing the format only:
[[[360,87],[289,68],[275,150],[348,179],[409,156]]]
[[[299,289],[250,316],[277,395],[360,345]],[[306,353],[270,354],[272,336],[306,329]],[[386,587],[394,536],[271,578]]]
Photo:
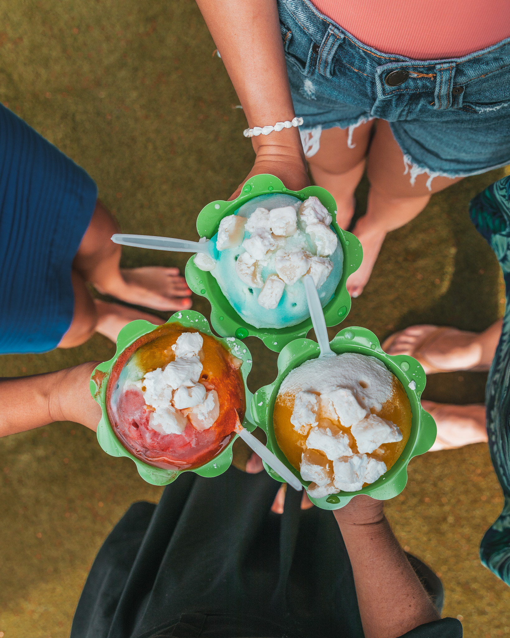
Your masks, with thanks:
[[[197,468],[217,456],[245,413],[240,366],[212,336],[165,324],[120,355],[106,404],[122,445],[145,463]]]

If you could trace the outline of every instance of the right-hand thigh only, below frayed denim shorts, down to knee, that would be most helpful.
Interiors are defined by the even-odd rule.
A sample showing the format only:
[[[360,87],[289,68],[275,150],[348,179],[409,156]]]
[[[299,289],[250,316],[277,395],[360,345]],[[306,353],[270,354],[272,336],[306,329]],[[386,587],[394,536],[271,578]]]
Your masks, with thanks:
[[[411,170],[406,170],[404,154],[391,133],[390,124],[381,119],[377,120],[368,151],[367,175],[372,188],[392,198],[424,197],[463,179],[434,177],[427,186],[430,176],[423,173],[416,175],[414,184],[411,184]]]

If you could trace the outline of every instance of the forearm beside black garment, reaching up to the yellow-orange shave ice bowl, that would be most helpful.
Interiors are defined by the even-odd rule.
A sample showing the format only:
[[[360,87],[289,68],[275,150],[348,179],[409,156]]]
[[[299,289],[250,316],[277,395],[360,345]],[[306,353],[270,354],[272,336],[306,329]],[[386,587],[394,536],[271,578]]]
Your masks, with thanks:
[[[382,511],[382,501],[355,496],[334,512],[353,568],[365,638],[397,638],[439,620]]]

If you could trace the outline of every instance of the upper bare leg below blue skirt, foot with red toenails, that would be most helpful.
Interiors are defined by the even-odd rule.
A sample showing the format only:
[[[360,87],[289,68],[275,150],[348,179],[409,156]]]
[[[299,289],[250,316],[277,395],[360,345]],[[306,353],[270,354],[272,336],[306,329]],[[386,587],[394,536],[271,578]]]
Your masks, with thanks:
[[[131,304],[156,310],[191,308],[191,290],[177,268],[119,268],[121,248],[110,239],[118,230],[115,219],[98,200],[73,262],[84,281]]]

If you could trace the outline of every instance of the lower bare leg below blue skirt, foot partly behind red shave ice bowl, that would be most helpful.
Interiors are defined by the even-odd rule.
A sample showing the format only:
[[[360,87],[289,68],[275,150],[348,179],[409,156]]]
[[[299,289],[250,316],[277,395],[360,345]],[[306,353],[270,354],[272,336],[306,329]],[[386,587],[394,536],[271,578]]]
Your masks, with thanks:
[[[119,304],[108,304],[92,299],[82,276],[73,269],[71,271],[73,290],[75,292],[75,313],[68,331],[61,339],[58,348],[75,348],[91,338],[94,332],[101,332],[113,342],[117,341],[120,330],[135,319],[145,319],[155,325],[164,323],[154,315],[126,308]]]

